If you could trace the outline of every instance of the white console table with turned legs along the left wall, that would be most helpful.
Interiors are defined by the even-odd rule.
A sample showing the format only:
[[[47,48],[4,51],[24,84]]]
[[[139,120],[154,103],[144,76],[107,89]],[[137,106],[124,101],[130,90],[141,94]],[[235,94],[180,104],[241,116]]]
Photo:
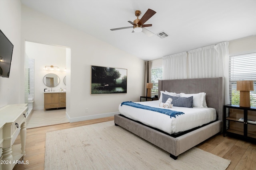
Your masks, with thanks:
[[[16,160],[24,160],[27,108],[27,104],[6,105],[0,108],[0,170],[12,170]],[[19,133],[21,143],[13,145]]]

